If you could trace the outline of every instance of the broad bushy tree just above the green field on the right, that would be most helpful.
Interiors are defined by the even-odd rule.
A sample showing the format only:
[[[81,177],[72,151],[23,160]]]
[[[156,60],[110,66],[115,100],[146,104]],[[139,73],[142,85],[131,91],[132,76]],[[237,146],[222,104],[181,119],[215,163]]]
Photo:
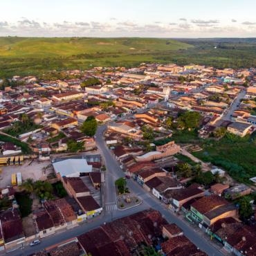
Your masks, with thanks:
[[[196,111],[185,111],[184,113],[181,113],[178,118],[178,126],[183,129],[198,128],[200,120],[200,113]]]

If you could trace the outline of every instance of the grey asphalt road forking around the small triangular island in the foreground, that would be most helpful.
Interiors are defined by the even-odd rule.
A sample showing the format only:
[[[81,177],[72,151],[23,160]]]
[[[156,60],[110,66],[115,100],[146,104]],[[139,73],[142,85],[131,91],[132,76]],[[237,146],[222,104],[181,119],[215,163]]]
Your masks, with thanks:
[[[129,187],[129,190],[134,194],[136,194],[137,196],[140,196],[140,198],[143,199],[143,203],[134,208],[130,208],[128,210],[116,209],[115,207],[116,192],[115,192],[114,181],[119,177],[125,176],[125,174],[124,172],[122,172],[120,166],[118,165],[118,162],[113,157],[107,145],[105,144],[104,136],[103,136],[104,129],[106,129],[106,126],[99,127],[95,135],[95,140],[98,145],[98,149],[100,150],[102,157],[104,158],[105,165],[107,167],[105,190],[104,190],[105,191],[104,212],[102,212],[102,214],[99,217],[92,219],[89,223],[84,223],[81,226],[78,226],[77,228],[64,230],[63,232],[58,232],[57,234],[52,235],[51,237],[46,237],[42,239],[42,243],[37,246],[34,246],[34,247],[25,246],[24,249],[12,251],[7,255],[10,255],[10,256],[30,255],[32,253],[38,252],[39,250],[43,250],[48,246],[53,246],[54,244],[58,244],[66,239],[70,239],[72,237],[77,237],[78,235],[82,235],[84,232],[88,232],[93,228],[98,228],[100,225],[104,224],[104,222],[110,222],[115,219],[119,219],[121,217],[134,214],[141,210],[153,208],[154,210],[158,210],[159,212],[161,212],[163,217],[167,219],[168,222],[170,223],[174,222],[180,228],[182,228],[184,235],[188,237],[188,239],[190,239],[197,247],[205,251],[205,253],[212,256],[213,255],[222,256],[223,254],[217,248],[215,248],[212,244],[210,244],[209,241],[206,241],[205,238],[202,235],[200,235],[200,232],[192,228],[192,226],[190,226],[189,223],[183,221],[183,219],[177,217],[176,214],[173,214],[172,212],[170,212],[170,210],[167,210],[166,205],[161,203],[152,194],[145,192],[145,190],[143,190],[143,188],[140,185],[138,185],[138,183],[136,183],[135,181],[132,181],[131,179],[127,180],[127,185]]]

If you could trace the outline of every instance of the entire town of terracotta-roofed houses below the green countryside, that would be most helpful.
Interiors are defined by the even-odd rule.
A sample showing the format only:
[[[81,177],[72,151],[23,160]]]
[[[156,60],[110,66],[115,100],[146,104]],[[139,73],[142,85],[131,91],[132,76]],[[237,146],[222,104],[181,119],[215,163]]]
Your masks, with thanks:
[[[256,68],[0,84],[1,252],[255,255]]]

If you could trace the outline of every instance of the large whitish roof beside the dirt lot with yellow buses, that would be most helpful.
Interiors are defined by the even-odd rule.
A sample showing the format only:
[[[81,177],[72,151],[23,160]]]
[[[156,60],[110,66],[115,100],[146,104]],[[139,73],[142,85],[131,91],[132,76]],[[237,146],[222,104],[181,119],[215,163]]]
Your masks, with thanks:
[[[53,168],[59,178],[79,177],[81,173],[92,171],[92,166],[88,165],[86,159],[65,159],[53,163]]]

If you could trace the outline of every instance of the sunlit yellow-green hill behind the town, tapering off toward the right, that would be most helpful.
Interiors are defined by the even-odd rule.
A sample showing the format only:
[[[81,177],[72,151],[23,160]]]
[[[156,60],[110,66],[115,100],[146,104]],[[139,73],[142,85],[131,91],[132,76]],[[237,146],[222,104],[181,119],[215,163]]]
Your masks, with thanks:
[[[191,46],[172,39],[0,37],[0,75],[38,74],[89,66],[134,66],[161,62]]]

